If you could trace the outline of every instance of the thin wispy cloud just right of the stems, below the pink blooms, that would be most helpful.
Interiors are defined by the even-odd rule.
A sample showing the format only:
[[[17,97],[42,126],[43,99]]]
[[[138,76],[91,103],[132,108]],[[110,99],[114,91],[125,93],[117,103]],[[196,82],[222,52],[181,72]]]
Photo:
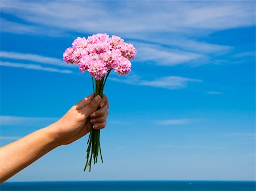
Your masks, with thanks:
[[[152,80],[144,80],[142,77],[138,75],[129,75],[126,78],[113,78],[110,77],[110,80],[114,80],[115,82],[122,82],[127,84],[133,84],[138,86],[151,86],[151,87],[161,87],[167,89],[182,89],[188,86],[190,82],[202,82],[200,79],[192,79],[192,78],[184,78],[184,77],[176,77],[176,76],[168,76],[162,78],[156,78]]]

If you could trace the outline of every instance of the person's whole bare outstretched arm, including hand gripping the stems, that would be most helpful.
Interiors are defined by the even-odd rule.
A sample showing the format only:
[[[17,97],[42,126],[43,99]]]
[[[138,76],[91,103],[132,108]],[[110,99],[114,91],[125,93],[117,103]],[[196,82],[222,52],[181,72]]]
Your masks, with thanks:
[[[100,107],[100,109],[98,109]],[[61,145],[68,145],[94,129],[106,126],[109,103],[93,95],[74,105],[59,121],[0,148],[0,182],[5,182],[37,159]]]

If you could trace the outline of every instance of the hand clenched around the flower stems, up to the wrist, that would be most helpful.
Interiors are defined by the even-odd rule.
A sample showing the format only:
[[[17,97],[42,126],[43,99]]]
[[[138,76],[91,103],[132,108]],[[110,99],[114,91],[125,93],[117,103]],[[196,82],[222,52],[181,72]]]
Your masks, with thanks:
[[[108,109],[108,98],[105,95],[94,99],[90,95],[79,101],[55,123],[59,145],[68,145],[83,137],[90,132],[92,124],[94,129],[105,128]]]

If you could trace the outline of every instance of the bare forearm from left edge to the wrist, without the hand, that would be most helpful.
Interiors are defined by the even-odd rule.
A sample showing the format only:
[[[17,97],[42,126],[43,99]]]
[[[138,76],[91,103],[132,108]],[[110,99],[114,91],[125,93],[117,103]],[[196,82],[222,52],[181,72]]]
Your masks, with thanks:
[[[0,148],[1,183],[59,146],[55,124]]]

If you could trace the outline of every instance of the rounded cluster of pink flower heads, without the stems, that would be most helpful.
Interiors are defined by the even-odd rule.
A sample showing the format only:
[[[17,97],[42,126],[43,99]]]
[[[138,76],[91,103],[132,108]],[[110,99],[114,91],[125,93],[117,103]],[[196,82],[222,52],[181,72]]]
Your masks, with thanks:
[[[114,69],[118,75],[131,71],[131,62],[137,51],[132,44],[127,44],[118,36],[109,37],[106,33],[78,37],[67,48],[63,59],[67,63],[76,63],[81,72],[89,71],[96,80],[100,80],[108,71]]]

